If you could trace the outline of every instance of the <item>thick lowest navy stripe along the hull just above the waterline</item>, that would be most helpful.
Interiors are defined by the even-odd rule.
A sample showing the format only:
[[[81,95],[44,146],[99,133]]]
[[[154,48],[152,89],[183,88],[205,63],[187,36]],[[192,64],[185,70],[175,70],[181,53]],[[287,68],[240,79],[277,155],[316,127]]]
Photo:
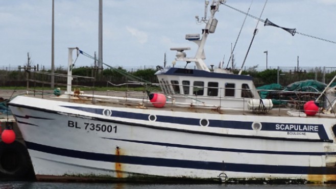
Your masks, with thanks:
[[[128,155],[114,155],[92,153],[77,150],[69,150],[63,148],[56,148],[37,143],[27,142],[27,147],[30,150],[40,152],[96,160],[106,161],[111,163],[143,165],[143,166],[157,166],[157,167],[171,167],[171,168],[186,168],[199,170],[213,170],[213,171],[232,171],[232,172],[247,172],[247,173],[269,173],[269,174],[336,174],[335,168],[330,167],[303,167],[303,166],[280,166],[280,165],[250,165],[250,164],[232,164],[213,161],[197,161],[197,160],[183,160],[183,159],[169,159],[169,158],[155,158],[155,157],[138,157]]]

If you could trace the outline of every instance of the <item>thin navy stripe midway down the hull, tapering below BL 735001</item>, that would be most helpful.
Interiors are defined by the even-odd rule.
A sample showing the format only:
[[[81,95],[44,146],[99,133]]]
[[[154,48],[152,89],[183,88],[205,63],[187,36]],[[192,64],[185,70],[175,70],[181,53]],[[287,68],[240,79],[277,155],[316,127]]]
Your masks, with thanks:
[[[278,155],[336,155],[336,152],[297,152],[297,151],[270,151],[270,150],[246,150],[246,149],[233,149],[233,148],[219,148],[219,147],[208,147],[208,146],[193,146],[184,144],[172,144],[172,143],[160,143],[160,142],[150,142],[150,141],[135,141],[127,139],[112,139],[103,138],[116,141],[125,141],[132,143],[150,144],[158,146],[169,146],[177,148],[187,148],[196,150],[209,150],[209,151],[221,151],[221,152],[238,152],[238,153],[257,153],[257,154],[278,154]]]

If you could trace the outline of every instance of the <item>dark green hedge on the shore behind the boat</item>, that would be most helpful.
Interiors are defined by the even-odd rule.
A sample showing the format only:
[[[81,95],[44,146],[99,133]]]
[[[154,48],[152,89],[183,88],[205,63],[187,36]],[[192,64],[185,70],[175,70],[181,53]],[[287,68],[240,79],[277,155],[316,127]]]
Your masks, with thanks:
[[[309,70],[277,70],[277,69],[266,69],[262,71],[257,71],[258,66],[250,67],[245,69],[243,75],[251,75],[253,77],[254,83],[257,87],[263,85],[269,85],[278,83],[282,86],[289,85],[291,83],[297,82],[299,80],[314,79],[319,82],[329,83],[330,80],[336,75],[336,71],[326,72],[321,68],[311,68]],[[41,70],[42,72],[51,73],[51,70]],[[73,69],[73,75],[85,76],[85,77],[94,77],[94,88],[95,90],[117,90],[124,91],[126,89],[132,88],[132,90],[142,91],[143,87],[139,85],[128,85],[121,87],[114,87],[110,85],[113,84],[123,84],[129,83],[130,81],[134,82],[134,79],[130,79],[130,75],[134,78],[136,77],[137,81],[146,83],[158,83],[157,77],[155,76],[156,69],[138,69],[135,71],[128,71],[123,67],[117,68],[107,68],[102,71],[95,69],[93,67],[79,67]],[[57,74],[66,74],[67,70],[60,67],[55,70]],[[238,70],[233,70],[234,73],[238,73]],[[29,71],[7,71],[0,70],[0,89],[26,89],[27,88],[27,78],[30,78],[32,83],[34,80],[43,80],[44,82],[50,82],[50,75],[35,74],[33,70]],[[79,81],[77,79],[73,80],[73,85],[81,86],[90,86],[86,85],[92,83],[93,79],[86,78],[84,81]],[[108,82],[107,82],[108,81]],[[55,83],[66,83],[66,77],[59,77],[55,79]],[[29,84],[29,87],[34,85]],[[38,84],[34,87],[41,87],[41,84]],[[50,85],[44,84],[45,88],[50,88]],[[61,89],[64,86],[58,86]],[[82,90],[82,88],[81,88]],[[84,89],[83,89],[84,90]]]

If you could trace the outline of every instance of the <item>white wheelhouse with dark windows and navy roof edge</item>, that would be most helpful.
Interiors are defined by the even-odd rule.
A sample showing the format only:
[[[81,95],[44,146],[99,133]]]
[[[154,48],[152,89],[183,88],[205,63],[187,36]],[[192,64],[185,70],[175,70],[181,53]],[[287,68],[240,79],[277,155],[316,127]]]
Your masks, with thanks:
[[[260,99],[248,75],[183,68],[159,70],[156,75],[163,93],[177,102],[247,109],[248,100]]]

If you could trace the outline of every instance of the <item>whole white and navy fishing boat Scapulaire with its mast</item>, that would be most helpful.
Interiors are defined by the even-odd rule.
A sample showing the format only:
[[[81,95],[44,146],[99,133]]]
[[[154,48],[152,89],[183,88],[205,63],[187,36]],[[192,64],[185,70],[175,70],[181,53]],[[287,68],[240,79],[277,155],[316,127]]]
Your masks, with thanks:
[[[304,110],[273,107],[271,99],[260,99],[251,76],[205,64],[204,45],[222,4],[212,1],[201,35],[186,35],[198,45],[195,57],[186,57],[188,47],[171,48],[175,61],[196,68],[159,68],[161,93],[131,98],[74,91],[73,51],[86,53],[69,48],[64,94],[12,99],[36,178],[335,182],[336,116],[332,99],[329,111],[321,103],[326,91],[296,101]]]

